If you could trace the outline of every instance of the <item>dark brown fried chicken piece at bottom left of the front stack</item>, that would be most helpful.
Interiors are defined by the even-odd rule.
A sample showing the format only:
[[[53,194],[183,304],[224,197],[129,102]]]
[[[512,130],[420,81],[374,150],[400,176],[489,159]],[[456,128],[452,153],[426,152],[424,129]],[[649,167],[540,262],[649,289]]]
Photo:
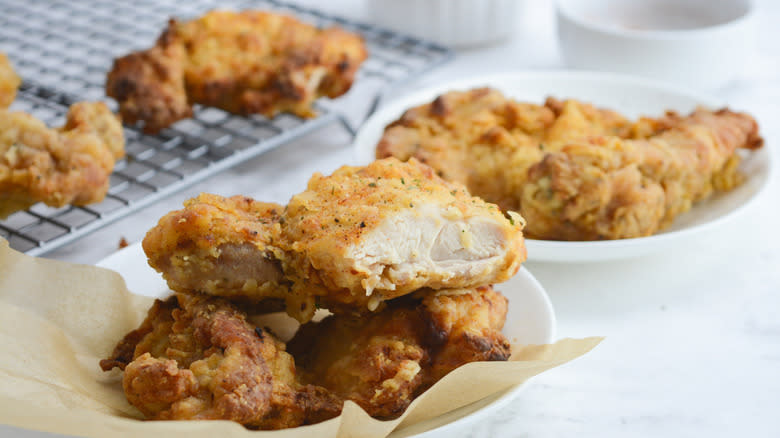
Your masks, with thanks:
[[[232,420],[283,429],[337,416],[342,401],[300,384],[285,346],[227,301],[157,301],[103,370],[124,369],[128,401],[153,420]],[[132,354],[131,354],[132,352]]]

